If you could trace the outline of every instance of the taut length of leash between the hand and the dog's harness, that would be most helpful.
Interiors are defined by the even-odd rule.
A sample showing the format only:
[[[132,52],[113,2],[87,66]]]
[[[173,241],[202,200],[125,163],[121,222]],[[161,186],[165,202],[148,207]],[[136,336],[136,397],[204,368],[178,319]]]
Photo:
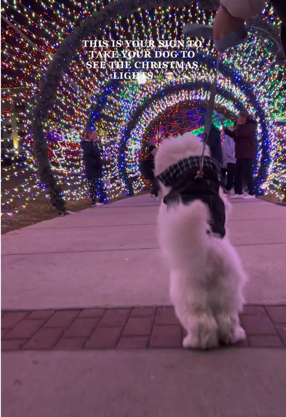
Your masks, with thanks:
[[[202,176],[203,176],[202,168],[204,166],[205,147],[206,147],[209,135],[210,135],[210,129],[212,127],[212,113],[213,113],[214,108],[215,108],[215,96],[216,96],[216,93],[217,93],[217,74],[218,74],[220,57],[221,57],[221,52],[218,51],[218,53],[217,53],[217,64],[216,64],[216,69],[215,69],[215,78],[213,80],[212,88],[210,90],[210,98],[209,98],[209,103],[207,105],[207,113],[206,113],[206,116],[205,116],[204,140],[203,140],[203,147],[202,147],[202,156],[200,157],[200,169],[199,169],[199,171],[197,171],[197,175],[195,176],[195,179],[196,178],[202,178]]]

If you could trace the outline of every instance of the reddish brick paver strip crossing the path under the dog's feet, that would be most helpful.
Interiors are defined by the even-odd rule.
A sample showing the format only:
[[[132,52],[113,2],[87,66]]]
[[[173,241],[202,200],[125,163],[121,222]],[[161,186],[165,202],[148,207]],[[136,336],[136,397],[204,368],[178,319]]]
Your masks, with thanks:
[[[286,306],[244,306],[247,340],[239,347],[286,347]],[[180,348],[173,307],[1,312],[1,349],[80,350]]]

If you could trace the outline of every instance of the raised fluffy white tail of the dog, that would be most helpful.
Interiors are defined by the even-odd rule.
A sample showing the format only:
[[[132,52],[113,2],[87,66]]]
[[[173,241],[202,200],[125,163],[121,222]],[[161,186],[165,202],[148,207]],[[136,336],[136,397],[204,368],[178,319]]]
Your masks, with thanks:
[[[204,259],[209,246],[210,212],[200,200],[165,208],[159,214],[160,244],[179,264]]]

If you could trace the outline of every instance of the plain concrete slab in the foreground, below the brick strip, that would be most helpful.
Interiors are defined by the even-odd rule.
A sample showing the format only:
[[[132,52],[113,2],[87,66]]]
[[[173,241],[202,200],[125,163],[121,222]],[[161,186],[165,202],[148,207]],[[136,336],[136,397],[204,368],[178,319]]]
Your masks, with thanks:
[[[17,352],[3,417],[285,417],[285,350]]]

